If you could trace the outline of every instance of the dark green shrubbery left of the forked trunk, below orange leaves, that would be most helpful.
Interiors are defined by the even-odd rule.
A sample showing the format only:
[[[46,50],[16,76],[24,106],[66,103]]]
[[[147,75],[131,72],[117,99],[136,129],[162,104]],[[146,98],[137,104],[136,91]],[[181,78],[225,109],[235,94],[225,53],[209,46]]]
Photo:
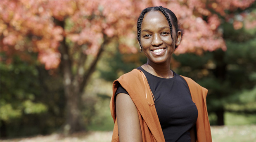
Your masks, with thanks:
[[[4,54],[1,54],[4,57]],[[43,66],[13,57],[0,62],[1,137],[47,134],[64,122],[62,80]]]

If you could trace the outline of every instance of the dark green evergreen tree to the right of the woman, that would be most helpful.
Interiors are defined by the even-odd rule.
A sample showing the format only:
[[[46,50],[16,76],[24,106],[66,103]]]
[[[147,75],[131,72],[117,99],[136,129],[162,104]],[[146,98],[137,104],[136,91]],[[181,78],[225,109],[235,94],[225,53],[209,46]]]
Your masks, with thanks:
[[[229,18],[220,16],[225,52],[215,50],[200,57],[194,54],[175,57],[180,62],[180,74],[190,76],[209,89],[209,114],[217,117],[212,124],[224,125],[226,111],[250,114],[256,110],[251,100],[244,99],[255,96],[255,5],[254,2],[246,9],[226,11],[231,15]]]

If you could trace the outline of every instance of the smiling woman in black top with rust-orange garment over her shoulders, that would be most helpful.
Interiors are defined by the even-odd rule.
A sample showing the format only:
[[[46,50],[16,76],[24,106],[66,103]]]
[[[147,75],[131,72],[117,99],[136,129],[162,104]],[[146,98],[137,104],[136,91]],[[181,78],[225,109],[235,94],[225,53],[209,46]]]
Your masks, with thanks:
[[[137,21],[137,39],[147,63],[113,83],[112,141],[211,142],[207,89],[170,69],[182,32],[175,14],[149,7]]]

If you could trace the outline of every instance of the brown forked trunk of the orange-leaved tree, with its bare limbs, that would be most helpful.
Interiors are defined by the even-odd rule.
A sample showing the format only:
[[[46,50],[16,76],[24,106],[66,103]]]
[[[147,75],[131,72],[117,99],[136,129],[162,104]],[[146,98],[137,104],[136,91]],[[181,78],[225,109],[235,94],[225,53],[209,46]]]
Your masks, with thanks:
[[[55,19],[56,25],[61,26],[63,29],[65,27],[64,21],[59,21]],[[66,44],[66,38],[60,42],[60,53],[61,57],[61,68],[63,73],[63,85],[64,94],[66,97],[66,122],[64,124],[64,133],[69,134],[77,131],[85,130],[84,122],[81,115],[81,95],[84,92],[84,88],[87,85],[90,76],[95,71],[96,64],[100,59],[100,55],[103,52],[105,44],[108,42],[108,37],[104,34],[103,43],[100,49],[91,62],[89,68],[86,70],[84,65],[86,64],[87,55],[80,52],[80,58],[77,65],[76,73],[72,73],[72,63],[75,62],[71,60],[71,55],[69,53],[69,46]]]

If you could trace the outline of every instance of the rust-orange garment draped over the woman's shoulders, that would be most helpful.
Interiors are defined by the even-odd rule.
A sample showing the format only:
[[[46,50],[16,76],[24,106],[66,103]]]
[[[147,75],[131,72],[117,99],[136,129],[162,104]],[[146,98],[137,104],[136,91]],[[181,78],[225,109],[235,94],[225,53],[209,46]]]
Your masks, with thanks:
[[[211,129],[206,108],[207,89],[201,87],[190,78],[183,78],[188,84],[192,101],[196,104],[198,110],[197,122],[195,124],[197,130],[197,142],[211,142]],[[110,101],[110,110],[115,125],[112,142],[119,142],[116,121],[116,103],[114,100],[118,82],[124,89],[126,89],[137,107],[143,142],[164,142],[164,134],[156,113],[156,108],[154,105],[149,105],[154,104],[153,94],[144,73],[137,69],[133,69],[133,71],[124,74],[113,82],[113,95]]]

